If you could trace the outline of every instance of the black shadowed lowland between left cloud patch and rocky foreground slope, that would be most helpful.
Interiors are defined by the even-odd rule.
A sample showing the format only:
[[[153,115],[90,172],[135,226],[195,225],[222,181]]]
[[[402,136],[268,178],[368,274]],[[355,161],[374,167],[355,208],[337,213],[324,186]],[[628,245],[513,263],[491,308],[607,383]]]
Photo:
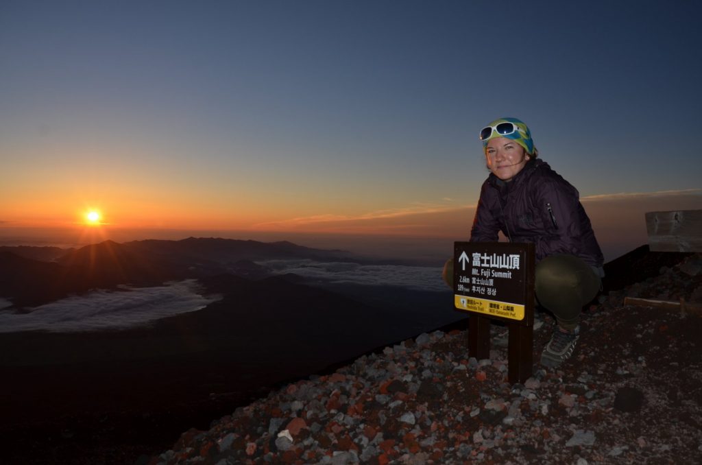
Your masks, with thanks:
[[[409,335],[397,313],[294,278],[212,277],[205,284],[223,301],[150,328],[0,334],[5,457],[126,463],[261,388]]]

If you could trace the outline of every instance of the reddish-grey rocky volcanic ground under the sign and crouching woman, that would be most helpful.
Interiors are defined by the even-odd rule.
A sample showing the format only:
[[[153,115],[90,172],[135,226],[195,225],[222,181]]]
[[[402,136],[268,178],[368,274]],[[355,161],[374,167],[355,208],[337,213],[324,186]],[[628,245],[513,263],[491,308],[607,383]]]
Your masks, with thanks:
[[[149,464],[702,463],[702,318],[623,306],[625,296],[702,302],[702,256],[583,314],[574,358],[507,379],[506,329],[489,360],[467,335],[432,332],[310,376],[190,430]],[[548,341],[541,314],[534,360]]]

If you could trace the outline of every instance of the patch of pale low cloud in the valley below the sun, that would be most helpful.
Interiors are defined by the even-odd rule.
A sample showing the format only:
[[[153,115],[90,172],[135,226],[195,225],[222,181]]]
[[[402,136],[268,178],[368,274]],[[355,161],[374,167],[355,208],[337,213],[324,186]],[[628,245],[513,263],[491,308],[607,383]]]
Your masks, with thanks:
[[[199,294],[196,280],[166,286],[95,291],[31,309],[29,313],[0,311],[0,332],[86,332],[147,325],[160,318],[205,308],[218,296]],[[8,303],[1,299],[0,308]]]

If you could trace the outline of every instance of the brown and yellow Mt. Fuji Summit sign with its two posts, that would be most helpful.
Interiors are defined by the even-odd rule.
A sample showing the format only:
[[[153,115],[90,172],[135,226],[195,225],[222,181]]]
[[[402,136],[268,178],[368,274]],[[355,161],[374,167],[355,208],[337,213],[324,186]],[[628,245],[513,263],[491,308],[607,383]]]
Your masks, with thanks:
[[[454,306],[470,313],[468,351],[490,357],[490,320],[509,328],[508,378],[527,381],[534,351],[534,244],[455,242]]]

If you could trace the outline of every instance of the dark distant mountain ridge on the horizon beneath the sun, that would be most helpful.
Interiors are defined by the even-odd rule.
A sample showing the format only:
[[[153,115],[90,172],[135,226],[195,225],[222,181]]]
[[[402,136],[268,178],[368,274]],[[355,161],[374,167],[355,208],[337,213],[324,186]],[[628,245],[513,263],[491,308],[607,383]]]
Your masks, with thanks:
[[[170,280],[204,279],[230,274],[250,280],[270,275],[254,261],[302,259],[349,261],[352,254],[302,247],[292,242],[257,242],[189,237],[185,240],[143,240],[119,244],[112,240],[69,249],[55,263],[20,256],[51,257],[56,250],[7,247],[0,256],[0,297],[17,308],[37,306],[91,289],[119,284],[155,286]],[[37,248],[46,249],[46,248]],[[222,278],[220,278],[221,280]],[[233,278],[231,278],[233,279]],[[298,282],[301,277],[287,277]],[[234,282],[230,282],[234,284]],[[241,282],[238,283],[241,285]],[[223,284],[213,287],[221,288]]]

